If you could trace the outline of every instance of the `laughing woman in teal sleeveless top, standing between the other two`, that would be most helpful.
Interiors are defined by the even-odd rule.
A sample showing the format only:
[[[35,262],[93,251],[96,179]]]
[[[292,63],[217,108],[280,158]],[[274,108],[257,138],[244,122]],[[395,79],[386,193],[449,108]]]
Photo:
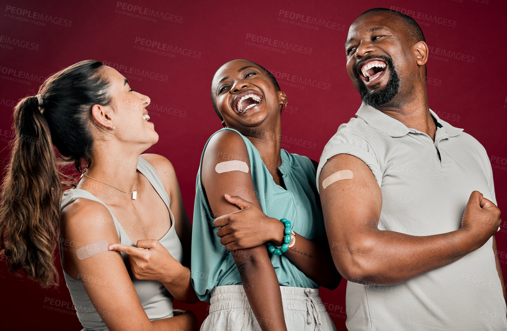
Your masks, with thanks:
[[[316,162],[280,149],[287,96],[264,67],[233,60],[216,71],[211,98],[224,129],[206,143],[197,175],[192,284],[211,303],[201,330],[334,330],[317,288],[336,288],[341,276]]]

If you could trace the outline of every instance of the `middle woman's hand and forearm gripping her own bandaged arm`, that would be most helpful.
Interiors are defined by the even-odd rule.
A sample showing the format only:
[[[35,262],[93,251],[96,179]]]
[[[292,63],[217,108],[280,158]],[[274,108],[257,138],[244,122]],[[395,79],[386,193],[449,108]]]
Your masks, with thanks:
[[[239,208],[238,211],[217,217],[213,226],[221,227],[216,234],[228,250],[246,249],[268,241],[282,245],[284,225],[280,220],[268,217],[252,203],[234,196],[225,199]],[[308,278],[317,284],[335,289],[341,276],[336,270],[327,240],[317,242],[296,234],[296,243],[285,256]]]

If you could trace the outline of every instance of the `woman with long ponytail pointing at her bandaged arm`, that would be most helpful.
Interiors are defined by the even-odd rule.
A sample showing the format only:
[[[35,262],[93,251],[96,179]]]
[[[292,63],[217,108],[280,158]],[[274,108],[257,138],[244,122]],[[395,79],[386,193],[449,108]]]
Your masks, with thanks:
[[[158,141],[149,104],[118,71],[87,60],[14,109],[1,253],[10,272],[57,286],[58,244],[84,330],[197,328],[191,311],[172,309],[172,298],[197,302],[191,226],[171,163],[141,154]],[[57,160],[82,173],[73,189],[63,191]]]

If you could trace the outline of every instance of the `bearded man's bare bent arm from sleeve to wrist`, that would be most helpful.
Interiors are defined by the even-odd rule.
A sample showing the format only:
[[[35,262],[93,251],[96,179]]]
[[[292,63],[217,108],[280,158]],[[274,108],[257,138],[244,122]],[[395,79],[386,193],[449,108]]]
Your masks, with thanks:
[[[352,178],[328,181],[329,186],[323,189],[323,181],[344,170],[351,171]],[[329,159],[319,181],[333,261],[349,281],[398,284],[448,265],[469,252],[457,231],[418,237],[379,230],[380,187],[370,168],[354,156],[339,154]],[[359,186],[364,188],[361,192],[352,191]]]

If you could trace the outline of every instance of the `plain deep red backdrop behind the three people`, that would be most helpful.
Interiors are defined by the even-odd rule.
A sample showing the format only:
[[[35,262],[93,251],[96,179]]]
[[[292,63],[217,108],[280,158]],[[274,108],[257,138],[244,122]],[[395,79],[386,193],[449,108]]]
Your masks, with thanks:
[[[228,60],[244,58],[275,73],[289,100],[282,117],[282,148],[318,160],[328,139],[341,123],[354,116],[360,105],[359,95],[345,70],[343,45],[349,25],[368,9],[398,7],[397,10],[409,11],[417,19],[431,48],[427,63],[430,107],[442,119],[464,128],[485,146],[493,165],[498,206],[505,208],[507,143],[503,128],[507,91],[500,62],[506,51],[504,0],[278,1],[276,4],[271,1],[124,1],[127,1],[125,10],[116,1],[0,1],[3,12],[0,16],[2,172],[8,162],[7,146],[13,134],[12,107],[17,100],[37,94],[44,78],[62,67],[85,59],[107,61],[115,68],[125,66],[120,72],[130,80],[132,88],[151,97],[151,121],[160,139],[149,152],[167,157],[174,165],[192,219],[202,148],[207,138],[221,128],[209,93],[215,70]],[[128,5],[140,6],[141,11],[147,8],[163,12],[167,19],[146,20],[139,17],[138,10],[137,13],[133,8],[129,11]],[[13,14],[8,6],[30,14],[19,10]],[[28,18],[33,12],[43,16]],[[310,23],[301,22],[302,16],[304,20],[310,17]],[[48,17],[52,21],[46,21]],[[319,25],[319,20],[330,27]],[[41,22],[45,25],[40,25]],[[262,39],[252,41],[250,35]],[[5,38],[14,40],[14,45]],[[169,48],[168,55],[148,52],[146,45],[144,50],[137,49],[136,46],[142,47],[142,39]],[[293,48],[278,47],[274,51],[257,46],[268,45],[269,39],[271,44],[278,40],[302,46],[303,53]],[[310,48],[311,54],[305,54]],[[129,76],[130,70],[134,73]],[[139,74],[143,70],[163,76],[143,77]],[[282,73],[286,74],[283,79]],[[287,85],[286,76],[299,86]],[[160,77],[163,81],[157,80]],[[505,233],[507,225],[502,224],[496,238],[503,273],[507,274]],[[62,282],[57,290],[51,291],[12,276],[5,262],[0,262],[2,328],[81,328],[63,282],[59,258],[55,263]],[[338,289],[320,292],[338,330],[346,329],[345,285],[344,280]],[[175,303],[174,306],[194,310],[200,322],[208,308],[206,303],[195,306]]]

